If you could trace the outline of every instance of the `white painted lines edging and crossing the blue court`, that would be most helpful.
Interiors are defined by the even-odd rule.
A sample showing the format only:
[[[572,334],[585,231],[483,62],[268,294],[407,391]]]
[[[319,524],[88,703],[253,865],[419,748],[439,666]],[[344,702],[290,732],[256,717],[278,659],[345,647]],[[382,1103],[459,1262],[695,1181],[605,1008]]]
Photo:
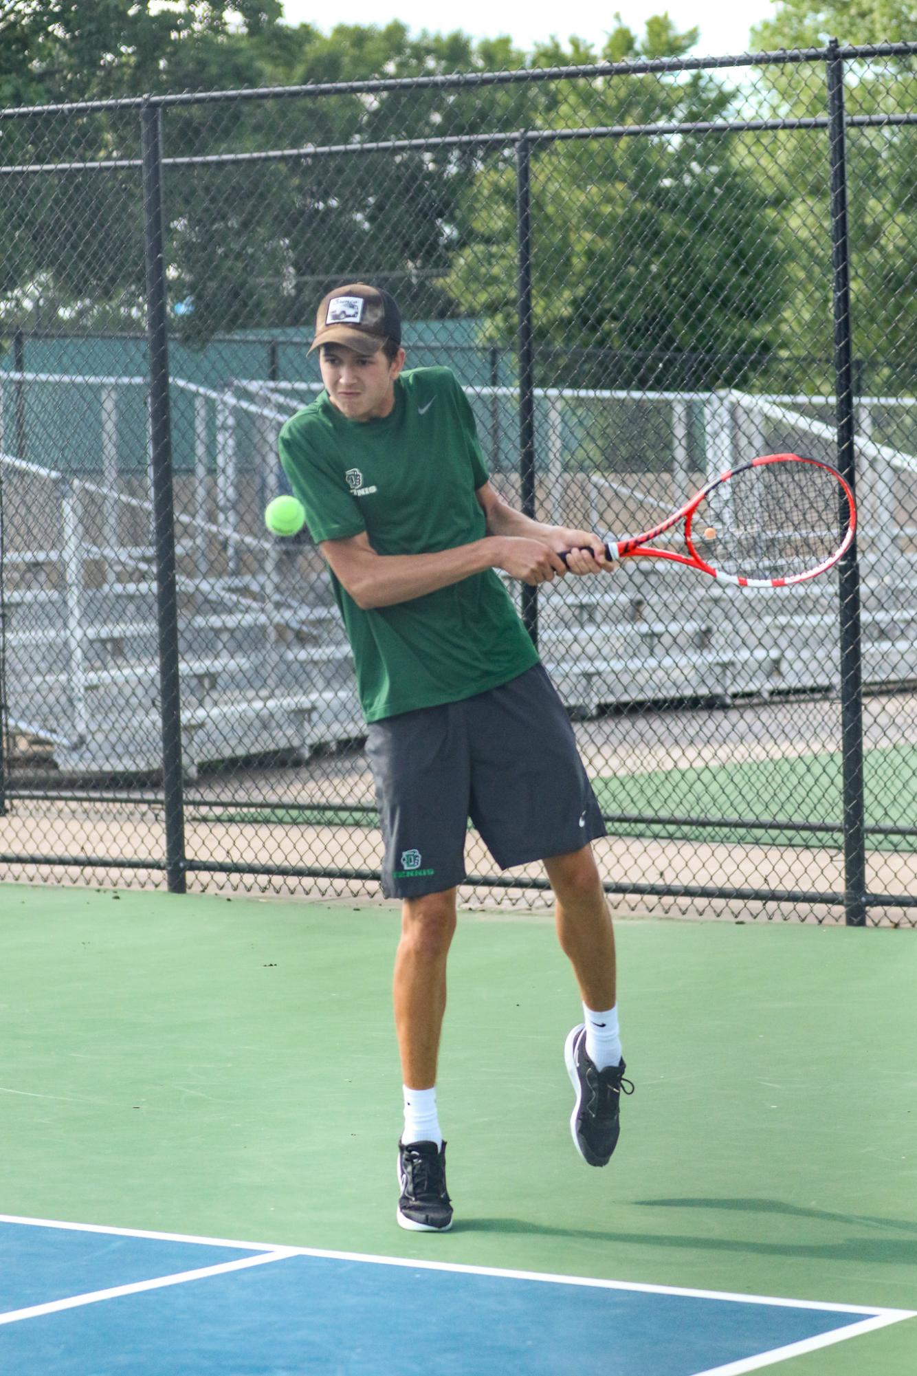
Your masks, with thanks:
[[[59,1227],[80,1233],[102,1233],[115,1237],[137,1237],[154,1241],[191,1243],[205,1247],[238,1247],[249,1252],[258,1252],[257,1256],[242,1258],[236,1262],[224,1262],[220,1266],[208,1266],[195,1271],[183,1271],[176,1276],[164,1277],[158,1281],[140,1281],[136,1285],[117,1287],[109,1291],[96,1291],[91,1295],[73,1296],[69,1300],[55,1300],[49,1304],[37,1304],[27,1310],[14,1310],[10,1314],[0,1314],[0,1324],[11,1322],[14,1318],[30,1318],[37,1314],[54,1313],[60,1309],[71,1309],[77,1304],[93,1303],[99,1299],[114,1299],[118,1295],[131,1295],[144,1289],[157,1289],[162,1285],[177,1285],[183,1281],[199,1280],[205,1276],[216,1276],[224,1271],[243,1270],[247,1266],[257,1266],[263,1262],[286,1260],[291,1256],[316,1256],[330,1260],[364,1262],[377,1266],[403,1266],[408,1270],[454,1271],[463,1276],[496,1276],[506,1280],[540,1281],[553,1285],[586,1285],[594,1289],[635,1291],[643,1295],[678,1295],[685,1299],[711,1299],[736,1304],[769,1304],[777,1309],[808,1309],[832,1314],[862,1314],[859,1324],[848,1324],[835,1328],[828,1333],[818,1333],[797,1343],[771,1348],[767,1353],[758,1353],[755,1357],[741,1358],[725,1366],[714,1366],[697,1372],[694,1376],[744,1376],[745,1372],[760,1370],[775,1362],[786,1361],[803,1353],[814,1351],[819,1347],[829,1347],[841,1343],[848,1337],[858,1337],[862,1333],[898,1324],[905,1318],[917,1318],[917,1311],[907,1309],[888,1309],[876,1304],[835,1304],[825,1300],[781,1299],[773,1295],[741,1295],[729,1291],[692,1289],[678,1285],[649,1285],[639,1281],[609,1281],[591,1276],[553,1276],[546,1271],[520,1271],[496,1266],[467,1266],[459,1262],[428,1262],[415,1260],[407,1256],[378,1256],[366,1252],[338,1252],[316,1247],[278,1247],[271,1243],[239,1243],[225,1238],[197,1237],[184,1233],[154,1233],[144,1229],[106,1227],[95,1223],[65,1223],[54,1219],[19,1218],[12,1214],[0,1214],[0,1223],[18,1223],[27,1227]]]

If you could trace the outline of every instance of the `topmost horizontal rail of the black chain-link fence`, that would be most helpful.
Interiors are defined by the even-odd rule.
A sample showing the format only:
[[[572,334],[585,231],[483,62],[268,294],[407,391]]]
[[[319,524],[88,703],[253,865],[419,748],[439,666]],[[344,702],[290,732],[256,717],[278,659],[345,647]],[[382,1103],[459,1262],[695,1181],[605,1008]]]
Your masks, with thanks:
[[[103,110],[137,110],[150,106],[168,109],[180,105],[206,105],[220,100],[276,100],[296,96],[355,95],[382,91],[461,89],[463,87],[514,85],[532,81],[561,81],[579,77],[616,77],[650,73],[698,72],[714,67],[774,66],[785,63],[826,62],[832,58],[910,56],[917,43],[872,43],[841,45],[833,41],[818,48],[781,48],[771,52],[740,52],[707,58],[645,58],[639,62],[591,62],[579,66],[520,67],[513,72],[455,72],[426,77],[384,77],[363,81],[323,81],[307,85],[246,87],[234,91],[183,91],[164,95],[117,96],[109,100],[67,100],[54,105],[10,106],[0,110],[0,120],[27,118],[41,114],[91,114]]]

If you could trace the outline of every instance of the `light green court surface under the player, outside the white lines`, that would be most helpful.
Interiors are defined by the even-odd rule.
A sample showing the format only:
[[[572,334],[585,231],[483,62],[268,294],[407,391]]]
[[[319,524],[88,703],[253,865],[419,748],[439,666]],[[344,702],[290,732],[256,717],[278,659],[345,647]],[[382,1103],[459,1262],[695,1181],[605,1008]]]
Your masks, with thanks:
[[[389,904],[0,890],[0,1212],[917,1309],[917,940],[617,925],[610,1165],[569,1137],[544,915],[463,915],[440,1066],[456,1225],[395,1223]],[[913,1376],[917,1320],[774,1368]]]

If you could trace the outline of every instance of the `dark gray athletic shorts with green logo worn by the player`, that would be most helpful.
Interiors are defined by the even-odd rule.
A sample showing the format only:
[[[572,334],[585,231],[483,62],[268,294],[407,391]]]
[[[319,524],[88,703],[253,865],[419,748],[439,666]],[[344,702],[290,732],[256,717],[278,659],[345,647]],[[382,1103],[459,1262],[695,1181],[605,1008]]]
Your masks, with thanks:
[[[542,665],[489,692],[374,721],[386,899],[465,879],[470,817],[500,870],[580,850],[605,823]]]

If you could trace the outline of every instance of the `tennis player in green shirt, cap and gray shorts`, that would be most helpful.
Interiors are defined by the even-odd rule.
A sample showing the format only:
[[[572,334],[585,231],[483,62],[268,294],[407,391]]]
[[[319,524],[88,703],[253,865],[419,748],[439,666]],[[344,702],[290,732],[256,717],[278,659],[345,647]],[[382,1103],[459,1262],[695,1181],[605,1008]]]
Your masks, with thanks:
[[[610,570],[601,541],[543,526],[491,487],[445,367],[404,370],[392,296],[322,300],[324,391],[280,431],[283,469],[330,566],[382,819],[382,892],[403,904],[395,1022],[404,1130],[397,1222],[451,1227],[436,1066],[469,816],[506,870],[543,860],[583,1021],[565,1044],[573,1142],[605,1165],[624,1061],[612,919],[590,842],[605,834],[564,706],[498,570],[529,586]],[[571,550],[566,563],[561,553]]]

